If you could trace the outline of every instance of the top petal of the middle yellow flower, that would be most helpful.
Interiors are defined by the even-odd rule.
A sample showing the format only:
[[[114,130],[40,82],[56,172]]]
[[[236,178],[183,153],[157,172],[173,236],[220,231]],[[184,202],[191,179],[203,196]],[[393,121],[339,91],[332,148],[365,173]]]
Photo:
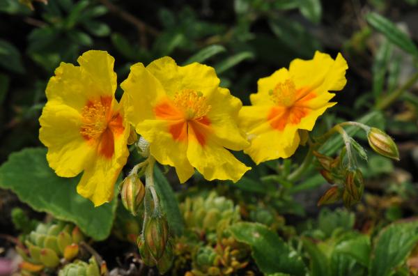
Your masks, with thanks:
[[[146,69],[160,81],[169,97],[185,89],[201,92],[208,97],[219,86],[215,69],[196,62],[177,66],[176,61],[164,56],[150,63]]]

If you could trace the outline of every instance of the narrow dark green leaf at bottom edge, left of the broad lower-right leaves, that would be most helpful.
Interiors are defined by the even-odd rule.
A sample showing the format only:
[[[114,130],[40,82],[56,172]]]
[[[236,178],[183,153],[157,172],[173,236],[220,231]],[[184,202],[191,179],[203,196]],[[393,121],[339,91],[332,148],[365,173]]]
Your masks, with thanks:
[[[311,276],[330,276],[330,261],[328,261],[327,256],[311,240],[303,238],[302,242],[304,250],[311,257]]]

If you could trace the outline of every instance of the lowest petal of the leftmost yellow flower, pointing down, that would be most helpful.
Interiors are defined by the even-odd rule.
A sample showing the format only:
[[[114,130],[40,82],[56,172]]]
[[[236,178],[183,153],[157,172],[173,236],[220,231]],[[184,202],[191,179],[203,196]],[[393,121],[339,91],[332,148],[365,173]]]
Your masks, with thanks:
[[[93,201],[97,207],[111,201],[114,195],[114,185],[127,161],[129,151],[126,141],[130,132],[130,125],[125,123],[122,135],[114,137],[114,155],[105,158],[103,155],[95,155],[90,162],[85,164],[84,174],[77,192]]]

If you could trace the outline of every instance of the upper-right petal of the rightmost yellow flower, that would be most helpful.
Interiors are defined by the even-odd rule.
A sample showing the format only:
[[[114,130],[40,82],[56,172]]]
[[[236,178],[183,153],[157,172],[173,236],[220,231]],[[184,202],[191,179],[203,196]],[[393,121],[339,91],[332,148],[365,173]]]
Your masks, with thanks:
[[[316,52],[314,59],[295,59],[289,66],[290,75],[297,88],[310,87],[319,94],[339,91],[346,85],[348,65],[341,54],[332,59],[329,54]]]

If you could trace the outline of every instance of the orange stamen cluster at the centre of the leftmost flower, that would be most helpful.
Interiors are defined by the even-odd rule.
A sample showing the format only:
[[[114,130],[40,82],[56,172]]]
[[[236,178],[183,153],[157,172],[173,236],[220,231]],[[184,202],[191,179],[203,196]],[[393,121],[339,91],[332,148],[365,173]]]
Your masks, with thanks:
[[[82,128],[80,133],[84,139],[98,139],[107,129],[107,116],[110,103],[107,100],[88,101],[82,109]]]

